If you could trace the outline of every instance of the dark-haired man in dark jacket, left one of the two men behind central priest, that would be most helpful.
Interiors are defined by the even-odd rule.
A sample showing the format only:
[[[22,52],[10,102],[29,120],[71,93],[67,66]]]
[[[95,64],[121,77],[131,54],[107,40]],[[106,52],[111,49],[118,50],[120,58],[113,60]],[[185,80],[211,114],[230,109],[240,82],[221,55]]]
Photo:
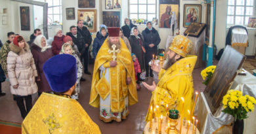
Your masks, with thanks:
[[[83,53],[85,52],[85,43],[83,41],[83,36],[81,35],[81,33],[77,32],[75,25],[72,25],[70,27],[70,32],[66,33],[66,35],[72,38],[73,43],[77,45],[79,53],[81,54],[81,56],[83,56]],[[85,78],[81,77],[80,80],[85,81]]]

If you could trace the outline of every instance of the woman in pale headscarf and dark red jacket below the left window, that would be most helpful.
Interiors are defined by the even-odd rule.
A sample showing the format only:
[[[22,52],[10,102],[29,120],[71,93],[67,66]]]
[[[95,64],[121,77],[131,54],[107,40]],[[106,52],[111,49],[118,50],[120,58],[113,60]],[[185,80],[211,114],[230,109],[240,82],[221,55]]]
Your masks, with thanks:
[[[53,51],[54,56],[57,54],[60,54],[62,44],[64,43],[64,37],[65,37],[65,35],[62,35],[62,29],[56,28],[55,36],[54,36],[54,39],[52,42],[52,51]]]

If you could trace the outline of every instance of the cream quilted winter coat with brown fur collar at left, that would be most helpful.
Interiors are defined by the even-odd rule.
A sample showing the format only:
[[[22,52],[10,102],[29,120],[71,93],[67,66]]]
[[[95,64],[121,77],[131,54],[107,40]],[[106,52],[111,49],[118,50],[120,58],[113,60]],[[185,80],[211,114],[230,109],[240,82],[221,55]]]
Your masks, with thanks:
[[[13,95],[26,96],[37,92],[37,84],[35,83],[37,70],[27,42],[25,42],[24,48],[15,46],[13,43],[10,44],[7,71]],[[17,84],[18,88],[14,89],[12,86]]]

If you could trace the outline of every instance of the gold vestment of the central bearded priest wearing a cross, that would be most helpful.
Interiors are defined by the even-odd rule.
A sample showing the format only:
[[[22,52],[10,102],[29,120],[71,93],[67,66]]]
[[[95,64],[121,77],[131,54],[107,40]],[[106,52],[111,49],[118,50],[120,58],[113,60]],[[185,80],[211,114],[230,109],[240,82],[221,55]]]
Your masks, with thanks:
[[[102,90],[97,90],[96,85],[100,80],[100,66],[104,63],[109,63],[112,61],[112,54],[108,53],[110,49],[108,47],[108,39],[104,41],[95,59],[95,67],[93,71],[93,80],[91,84],[91,96],[89,105],[93,107],[100,106],[100,97],[104,99],[109,93],[111,96],[111,111],[112,112],[122,112],[124,107],[124,98],[128,95],[129,105],[134,105],[138,102],[137,98],[137,88],[135,80],[135,71],[133,68],[133,60],[131,58],[131,53],[129,52],[127,46],[120,39],[121,42],[121,52],[117,53],[117,65],[116,67],[110,67],[110,88],[106,89],[104,92]],[[131,78],[131,84],[126,84],[126,77]],[[101,84],[106,83],[105,80]],[[104,82],[105,81],[105,82]],[[106,88],[108,86],[104,86]]]

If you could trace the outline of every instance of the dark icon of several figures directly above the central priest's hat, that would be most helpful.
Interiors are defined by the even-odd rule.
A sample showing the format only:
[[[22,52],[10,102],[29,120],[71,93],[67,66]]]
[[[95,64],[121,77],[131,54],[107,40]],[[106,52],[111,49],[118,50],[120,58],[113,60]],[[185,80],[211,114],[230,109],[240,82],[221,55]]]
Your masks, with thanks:
[[[103,11],[103,24],[107,27],[120,27],[120,12]]]

